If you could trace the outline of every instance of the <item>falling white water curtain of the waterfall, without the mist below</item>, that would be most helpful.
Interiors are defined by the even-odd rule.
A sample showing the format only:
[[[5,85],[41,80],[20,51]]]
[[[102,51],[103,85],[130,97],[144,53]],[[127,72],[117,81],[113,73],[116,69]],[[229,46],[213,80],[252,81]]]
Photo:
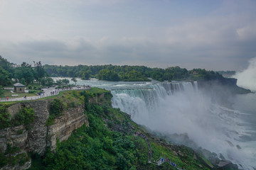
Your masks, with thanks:
[[[181,91],[193,95],[198,91],[197,82],[164,82],[152,84],[149,89],[112,90],[112,106],[131,115],[137,123],[147,124],[158,113],[161,101]]]

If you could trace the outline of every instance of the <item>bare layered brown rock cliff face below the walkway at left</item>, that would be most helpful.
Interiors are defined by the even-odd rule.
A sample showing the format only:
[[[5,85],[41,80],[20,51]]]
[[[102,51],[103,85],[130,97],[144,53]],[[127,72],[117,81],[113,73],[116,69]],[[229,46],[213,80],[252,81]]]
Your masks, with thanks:
[[[62,115],[55,118],[55,123],[46,126],[46,120],[49,117],[50,101],[28,101],[16,103],[8,108],[11,115],[15,115],[21,107],[31,107],[35,111],[35,121],[31,125],[30,130],[26,130],[23,125],[5,128],[0,130],[0,152],[6,152],[6,149],[16,148],[15,152],[11,152],[11,156],[23,157],[28,152],[36,152],[43,155],[46,152],[46,147],[55,149],[56,140],[68,140],[73,130],[80,128],[85,123],[88,125],[87,116],[84,114],[83,106],[74,106],[63,111]],[[28,169],[31,165],[31,160],[26,160],[25,163],[14,164],[13,166],[4,166],[2,169]]]

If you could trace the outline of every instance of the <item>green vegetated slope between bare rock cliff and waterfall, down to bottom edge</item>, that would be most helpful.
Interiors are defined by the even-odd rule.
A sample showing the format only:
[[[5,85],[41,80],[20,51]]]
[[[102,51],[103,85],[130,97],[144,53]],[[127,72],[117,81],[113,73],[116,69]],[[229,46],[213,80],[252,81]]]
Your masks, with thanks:
[[[166,157],[180,168],[208,169],[201,159],[194,159],[196,153],[192,149],[161,144],[129,115],[112,108],[110,91],[70,91],[61,97],[63,102],[67,95],[84,99],[89,127],[83,125],[67,141],[58,142],[55,152],[48,149],[43,157],[33,154],[30,169],[174,169],[171,164],[157,166],[148,162],[149,147],[142,137],[134,136],[137,131],[149,137],[152,162]]]

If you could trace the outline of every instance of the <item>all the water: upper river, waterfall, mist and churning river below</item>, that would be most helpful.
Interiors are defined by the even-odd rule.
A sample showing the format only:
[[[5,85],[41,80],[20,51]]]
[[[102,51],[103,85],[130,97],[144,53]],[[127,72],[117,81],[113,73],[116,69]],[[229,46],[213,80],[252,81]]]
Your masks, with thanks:
[[[198,89],[197,82],[78,79],[77,84],[110,90],[114,108],[154,132],[185,134],[198,147],[222,154],[240,169],[256,167],[256,94],[230,96],[227,105]]]

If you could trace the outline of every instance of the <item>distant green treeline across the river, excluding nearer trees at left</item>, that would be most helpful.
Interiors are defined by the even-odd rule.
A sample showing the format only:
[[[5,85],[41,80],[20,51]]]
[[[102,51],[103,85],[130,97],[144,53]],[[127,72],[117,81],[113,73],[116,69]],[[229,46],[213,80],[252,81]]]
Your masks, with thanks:
[[[97,78],[107,81],[150,81],[149,78],[158,81],[224,79],[218,72],[206,71],[206,69],[192,69],[188,71],[178,66],[160,69],[112,64],[96,66],[56,66],[46,64],[44,69],[51,77]]]

